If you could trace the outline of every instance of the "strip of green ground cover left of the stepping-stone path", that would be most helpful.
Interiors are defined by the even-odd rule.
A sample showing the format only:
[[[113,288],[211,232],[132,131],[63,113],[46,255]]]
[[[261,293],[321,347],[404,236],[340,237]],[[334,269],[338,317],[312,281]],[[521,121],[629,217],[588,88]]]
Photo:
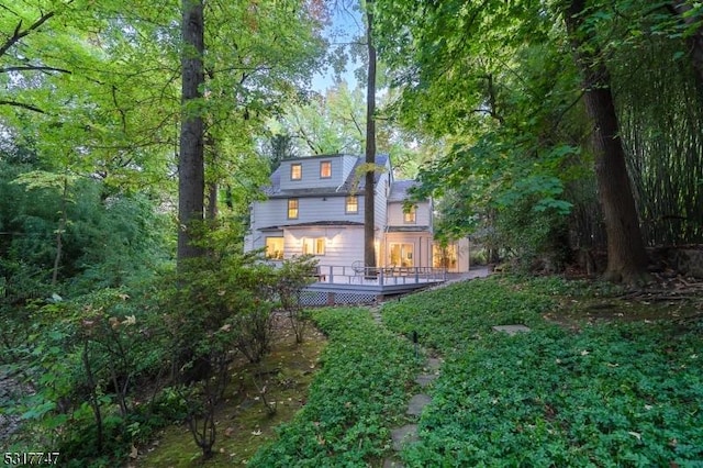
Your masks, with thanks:
[[[249,466],[379,465],[403,413],[419,363],[410,342],[376,324],[367,309],[313,312],[328,337],[303,410]]]

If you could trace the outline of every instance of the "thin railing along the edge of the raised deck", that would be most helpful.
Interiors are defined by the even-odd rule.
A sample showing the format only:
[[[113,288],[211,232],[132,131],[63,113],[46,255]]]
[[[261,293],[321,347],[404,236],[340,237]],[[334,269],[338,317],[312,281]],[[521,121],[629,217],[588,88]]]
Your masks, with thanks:
[[[336,285],[416,285],[447,279],[445,268],[431,267],[356,267],[319,265],[319,282]]]

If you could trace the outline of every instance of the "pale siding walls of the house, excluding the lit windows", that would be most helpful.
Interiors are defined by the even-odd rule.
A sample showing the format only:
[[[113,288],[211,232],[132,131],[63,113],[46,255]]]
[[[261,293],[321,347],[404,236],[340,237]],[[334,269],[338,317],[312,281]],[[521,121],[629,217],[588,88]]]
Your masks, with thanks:
[[[327,160],[331,163],[331,177],[321,179],[320,163]],[[245,237],[245,249],[263,248],[266,246],[267,237],[279,237],[282,238],[283,257],[290,258],[302,255],[303,246],[310,248],[311,239],[315,243],[324,239],[324,254],[314,255],[321,266],[350,267],[355,261],[362,261],[365,207],[362,187],[355,192],[358,200],[357,212],[346,213],[346,197],[352,187],[354,168],[361,161],[359,157],[348,155],[314,156],[282,161],[280,181],[278,175],[271,178],[272,196],[268,200],[258,201],[252,205],[250,232]],[[292,164],[301,165],[300,180],[290,179]],[[277,189],[279,183],[280,187]],[[392,246],[403,245],[404,249],[412,250],[412,266],[435,266],[437,261],[433,258],[435,242],[432,234],[432,202],[417,203],[415,223],[405,223],[403,203],[399,201],[399,193],[403,193],[409,181],[392,183],[390,161],[386,159],[386,170],[378,175],[375,191],[375,245],[378,265],[391,266],[393,263],[391,255],[398,257],[400,252],[399,247],[395,247],[393,254]],[[317,189],[316,194],[305,193],[309,189]],[[394,198],[389,201],[390,192],[397,189],[401,191],[394,192]],[[286,190],[299,190],[301,193],[297,197],[299,203],[297,219],[288,218],[289,199],[281,193]],[[324,194],[325,192],[327,194]],[[311,225],[315,223],[319,225]],[[456,244],[457,249],[453,252],[457,252],[457,255],[456,260],[451,260],[453,268],[457,271],[468,271],[468,239],[457,241]],[[445,254],[444,258],[446,257]],[[408,260],[409,258],[405,258],[404,263]]]

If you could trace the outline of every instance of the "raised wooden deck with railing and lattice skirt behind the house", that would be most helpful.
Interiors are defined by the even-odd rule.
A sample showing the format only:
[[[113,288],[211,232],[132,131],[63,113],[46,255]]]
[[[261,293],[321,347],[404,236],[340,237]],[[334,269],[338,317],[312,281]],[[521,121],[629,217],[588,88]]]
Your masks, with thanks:
[[[389,296],[404,294],[446,280],[443,268],[317,267],[317,281],[301,294],[304,305],[373,303]]]

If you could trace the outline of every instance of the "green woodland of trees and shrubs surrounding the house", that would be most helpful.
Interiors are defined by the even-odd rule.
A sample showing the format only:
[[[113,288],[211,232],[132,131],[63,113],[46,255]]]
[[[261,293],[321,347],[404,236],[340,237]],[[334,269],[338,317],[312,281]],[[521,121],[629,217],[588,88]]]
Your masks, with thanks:
[[[242,248],[282,158],[388,153],[439,235],[525,270],[637,286],[703,243],[693,0],[0,1],[0,365],[76,466],[179,417],[210,455],[234,350],[299,323],[309,260]]]

